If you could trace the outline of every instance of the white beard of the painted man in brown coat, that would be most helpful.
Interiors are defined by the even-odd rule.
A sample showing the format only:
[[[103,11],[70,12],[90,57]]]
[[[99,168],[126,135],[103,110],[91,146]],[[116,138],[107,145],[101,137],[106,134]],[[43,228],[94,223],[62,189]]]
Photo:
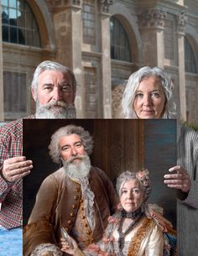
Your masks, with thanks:
[[[81,161],[72,162],[73,159],[81,159]],[[85,178],[90,173],[91,161],[87,154],[83,156],[78,155],[72,157],[72,159],[69,159],[67,161],[62,160],[62,163],[65,173],[69,175],[72,179],[80,180],[82,178]]]

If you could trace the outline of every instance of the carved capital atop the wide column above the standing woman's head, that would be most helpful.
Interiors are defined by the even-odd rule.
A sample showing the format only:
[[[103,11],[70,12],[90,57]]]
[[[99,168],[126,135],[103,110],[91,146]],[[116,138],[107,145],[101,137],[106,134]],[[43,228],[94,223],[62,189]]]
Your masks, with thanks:
[[[164,19],[167,14],[159,9],[145,9],[138,15],[140,28],[164,28]]]

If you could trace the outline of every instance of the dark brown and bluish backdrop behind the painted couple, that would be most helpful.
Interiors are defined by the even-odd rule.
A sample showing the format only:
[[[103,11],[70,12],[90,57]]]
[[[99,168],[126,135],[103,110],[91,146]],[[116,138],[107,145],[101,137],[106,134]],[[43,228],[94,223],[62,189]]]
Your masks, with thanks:
[[[147,168],[152,180],[149,202],[164,208],[164,216],[176,223],[176,191],[163,183],[164,174],[176,165],[175,120],[74,119],[23,120],[23,155],[34,169],[23,179],[23,226],[28,222],[41,182],[60,166],[50,159],[48,146],[55,130],[67,124],[81,125],[94,138],[91,164],[104,170],[115,185],[125,170]]]

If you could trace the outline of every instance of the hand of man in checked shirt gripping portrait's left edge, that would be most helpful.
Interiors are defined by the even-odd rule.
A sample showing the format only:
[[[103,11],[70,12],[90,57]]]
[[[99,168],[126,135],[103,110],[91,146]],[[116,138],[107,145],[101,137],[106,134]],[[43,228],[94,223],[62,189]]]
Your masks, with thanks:
[[[30,170],[33,168],[32,164],[33,162],[31,160],[26,160],[24,156],[6,159],[3,162],[3,179],[9,182],[14,182],[29,175]]]

